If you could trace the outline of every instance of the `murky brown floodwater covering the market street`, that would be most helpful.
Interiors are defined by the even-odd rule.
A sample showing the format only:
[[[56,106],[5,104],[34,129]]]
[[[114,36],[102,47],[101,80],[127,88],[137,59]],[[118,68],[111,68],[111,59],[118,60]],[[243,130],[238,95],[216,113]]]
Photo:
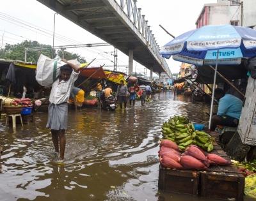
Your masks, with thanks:
[[[5,128],[2,117],[0,200],[198,200],[157,191],[158,141],[170,116],[206,123],[207,113],[209,105],[172,92],[154,94],[144,107],[137,101],[115,112],[69,110],[64,166],[52,161],[47,113],[36,113],[16,131]]]

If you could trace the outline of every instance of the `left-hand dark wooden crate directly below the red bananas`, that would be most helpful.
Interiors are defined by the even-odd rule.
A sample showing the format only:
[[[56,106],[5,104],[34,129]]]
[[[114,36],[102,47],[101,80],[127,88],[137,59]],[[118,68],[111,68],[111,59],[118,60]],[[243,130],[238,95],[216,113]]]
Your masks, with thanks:
[[[170,170],[159,166],[159,190],[168,193],[198,195],[199,184],[198,171]]]

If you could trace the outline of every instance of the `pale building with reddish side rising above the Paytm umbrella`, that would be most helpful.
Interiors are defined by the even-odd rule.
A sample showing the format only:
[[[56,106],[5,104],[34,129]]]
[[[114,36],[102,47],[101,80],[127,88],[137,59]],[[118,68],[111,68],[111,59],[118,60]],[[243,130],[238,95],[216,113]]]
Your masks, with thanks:
[[[234,26],[242,26],[241,21],[243,21],[243,26],[245,27],[256,27],[255,0],[216,1],[216,3],[204,4],[198,19],[196,20],[197,28],[210,24],[232,24]]]

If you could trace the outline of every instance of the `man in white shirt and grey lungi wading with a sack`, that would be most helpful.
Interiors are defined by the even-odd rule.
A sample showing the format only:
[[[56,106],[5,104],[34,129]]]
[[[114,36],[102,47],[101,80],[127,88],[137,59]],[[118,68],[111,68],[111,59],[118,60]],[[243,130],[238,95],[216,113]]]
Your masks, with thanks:
[[[68,120],[67,101],[71,88],[79,75],[79,66],[65,59],[62,59],[62,61],[67,64],[60,67],[60,77],[52,84],[46,125],[47,128],[51,129],[55,152],[58,155],[60,154],[57,163],[63,163],[64,160],[66,146],[65,130],[67,130]]]

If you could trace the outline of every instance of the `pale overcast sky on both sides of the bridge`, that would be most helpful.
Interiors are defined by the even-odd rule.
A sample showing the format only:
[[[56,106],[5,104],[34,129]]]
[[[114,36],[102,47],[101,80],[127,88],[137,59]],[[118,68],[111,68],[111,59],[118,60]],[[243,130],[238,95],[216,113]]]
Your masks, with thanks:
[[[116,0],[118,1],[118,0]],[[172,40],[159,24],[167,29],[174,36],[178,36],[186,31],[195,29],[195,22],[205,3],[216,3],[217,0],[138,0],[138,8],[141,8],[142,15],[146,15],[148,25],[156,37],[159,46],[163,46]],[[10,18],[11,17],[11,18]],[[0,6],[0,48],[5,43],[15,44],[23,40],[36,40],[39,43],[52,45],[54,11],[50,10],[36,0],[1,0]],[[22,20],[24,24],[18,22]],[[25,24],[31,24],[31,27]],[[36,27],[35,27],[36,26]],[[36,29],[35,29],[36,28]],[[44,31],[44,32],[42,32]],[[56,37],[54,45],[70,45],[81,43],[103,43],[93,34],[85,31],[69,20],[56,15],[55,26]],[[3,37],[2,37],[3,36]],[[93,66],[106,64],[113,66],[113,47],[91,47],[91,48],[72,48],[70,52],[76,52],[85,57],[87,61],[93,58],[97,60]],[[179,72],[180,63],[171,59],[166,60],[172,73]],[[118,51],[119,71],[126,71],[128,57]],[[137,72],[144,72],[145,67],[134,62]],[[149,76],[149,70],[147,70]]]

